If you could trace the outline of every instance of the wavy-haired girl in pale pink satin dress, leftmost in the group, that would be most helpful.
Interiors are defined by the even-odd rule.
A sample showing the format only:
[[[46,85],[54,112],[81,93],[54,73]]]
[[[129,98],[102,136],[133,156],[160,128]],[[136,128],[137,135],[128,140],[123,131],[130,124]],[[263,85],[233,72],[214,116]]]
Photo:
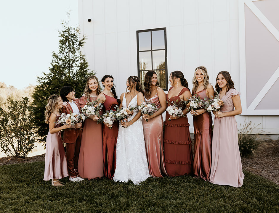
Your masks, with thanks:
[[[59,95],[51,95],[47,100],[45,122],[49,124],[47,134],[46,157],[44,165],[44,180],[52,179],[53,186],[63,186],[59,179],[68,177],[67,161],[61,139],[61,130],[70,128],[70,125],[55,123],[62,112],[63,101]]]

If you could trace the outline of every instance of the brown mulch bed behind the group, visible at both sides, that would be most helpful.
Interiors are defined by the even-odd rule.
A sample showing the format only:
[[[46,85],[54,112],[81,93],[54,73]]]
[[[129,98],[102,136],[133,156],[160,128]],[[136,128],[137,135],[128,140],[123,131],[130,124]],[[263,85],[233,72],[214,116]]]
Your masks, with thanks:
[[[192,143],[193,145],[193,143]],[[33,157],[2,157],[0,165],[44,161],[45,154]],[[279,184],[279,141],[262,141],[255,155],[241,159],[242,168]]]

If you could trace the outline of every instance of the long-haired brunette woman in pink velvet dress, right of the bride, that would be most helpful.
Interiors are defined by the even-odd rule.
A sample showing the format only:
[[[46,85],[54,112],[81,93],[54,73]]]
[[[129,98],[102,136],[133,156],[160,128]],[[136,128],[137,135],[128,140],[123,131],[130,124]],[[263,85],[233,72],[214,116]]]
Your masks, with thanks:
[[[148,71],[144,77],[144,99],[147,103],[154,103],[159,109],[153,115],[143,114],[142,125],[149,173],[153,177],[162,178],[167,175],[163,154],[163,117],[166,110],[166,94],[158,87],[157,74]],[[146,122],[148,119],[148,122]]]

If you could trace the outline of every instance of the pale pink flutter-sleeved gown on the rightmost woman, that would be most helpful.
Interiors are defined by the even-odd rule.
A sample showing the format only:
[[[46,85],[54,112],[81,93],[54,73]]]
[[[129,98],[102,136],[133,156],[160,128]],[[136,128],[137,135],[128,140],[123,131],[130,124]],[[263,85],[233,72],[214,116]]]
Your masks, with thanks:
[[[221,112],[234,110],[232,97],[236,95],[240,95],[240,93],[235,89],[230,89],[225,93],[221,99],[225,103],[220,109]],[[235,117],[215,117],[210,182],[240,187],[243,179]]]

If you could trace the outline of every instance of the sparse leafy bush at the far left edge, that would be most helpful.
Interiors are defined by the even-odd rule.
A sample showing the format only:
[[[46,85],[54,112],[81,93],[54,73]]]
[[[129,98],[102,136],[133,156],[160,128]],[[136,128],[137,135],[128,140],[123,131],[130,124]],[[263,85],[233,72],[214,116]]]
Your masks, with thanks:
[[[28,98],[11,101],[8,110],[0,108],[0,148],[7,156],[25,157],[38,140],[33,111]]]

